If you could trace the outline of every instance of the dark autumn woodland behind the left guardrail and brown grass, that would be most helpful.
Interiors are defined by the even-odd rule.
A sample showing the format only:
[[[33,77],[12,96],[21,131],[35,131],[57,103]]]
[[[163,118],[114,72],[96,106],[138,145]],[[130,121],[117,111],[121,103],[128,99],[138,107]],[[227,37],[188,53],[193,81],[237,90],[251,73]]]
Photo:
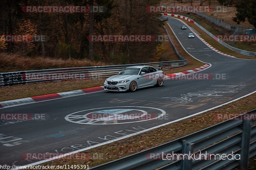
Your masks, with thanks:
[[[159,0],[2,0],[0,35],[45,35],[42,42],[0,41],[0,50],[26,57],[53,59],[89,59],[110,63],[150,62],[159,42],[93,42],[91,55],[90,13],[25,13],[22,7],[35,6],[106,6],[107,12],[93,13],[94,35],[156,35],[163,21],[148,13],[148,5]],[[92,25],[91,25],[92,26]],[[159,59],[161,60],[161,59]]]

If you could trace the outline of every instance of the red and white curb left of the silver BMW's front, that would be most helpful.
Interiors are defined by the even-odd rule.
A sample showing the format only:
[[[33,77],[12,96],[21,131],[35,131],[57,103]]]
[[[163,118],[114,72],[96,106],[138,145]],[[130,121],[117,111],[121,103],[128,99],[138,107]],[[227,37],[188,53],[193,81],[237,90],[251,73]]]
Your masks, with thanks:
[[[81,90],[75,90],[70,92],[61,92],[61,93],[54,93],[54,94],[46,94],[42,96],[28,97],[24,99],[2,101],[0,102],[0,108],[18,106],[18,105],[35,103],[35,102],[46,101],[46,100],[60,99],[60,98],[77,96],[82,94],[89,94],[93,92],[100,92],[103,90],[104,90],[103,86],[100,86],[100,87],[92,87],[88,89],[81,89]]]

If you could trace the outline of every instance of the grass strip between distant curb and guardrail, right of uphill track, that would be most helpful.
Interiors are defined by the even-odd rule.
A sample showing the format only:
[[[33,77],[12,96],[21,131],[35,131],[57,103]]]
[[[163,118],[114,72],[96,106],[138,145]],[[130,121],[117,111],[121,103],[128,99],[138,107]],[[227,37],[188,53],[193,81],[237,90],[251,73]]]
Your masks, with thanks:
[[[173,17],[173,18],[178,18],[178,17]],[[178,18],[181,19],[181,18]],[[192,18],[193,19],[193,18]],[[201,30],[199,27],[197,27],[195,24],[188,22],[185,19],[181,19],[184,22],[186,22],[196,33],[198,33],[206,42],[208,42],[212,47],[216,48],[217,50],[236,56],[237,58],[243,58],[243,59],[256,59],[256,57],[251,57],[247,55],[242,55],[240,53],[236,53],[235,51],[232,51],[225,46],[221,45],[219,42],[215,41],[212,37],[210,37],[207,33],[205,33],[203,30]]]

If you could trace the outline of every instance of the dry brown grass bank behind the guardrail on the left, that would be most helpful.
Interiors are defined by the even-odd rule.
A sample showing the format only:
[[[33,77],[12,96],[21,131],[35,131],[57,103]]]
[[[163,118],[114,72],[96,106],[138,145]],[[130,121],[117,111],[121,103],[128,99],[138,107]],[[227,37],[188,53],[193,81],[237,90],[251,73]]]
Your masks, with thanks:
[[[0,72],[42,70],[68,67],[100,66],[106,63],[83,60],[63,60],[44,57],[24,57],[18,54],[0,53]]]

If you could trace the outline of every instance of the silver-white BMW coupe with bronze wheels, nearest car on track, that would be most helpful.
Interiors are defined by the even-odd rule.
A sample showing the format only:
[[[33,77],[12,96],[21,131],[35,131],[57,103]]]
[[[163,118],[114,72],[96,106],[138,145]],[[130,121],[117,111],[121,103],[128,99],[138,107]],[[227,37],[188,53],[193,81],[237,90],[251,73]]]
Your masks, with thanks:
[[[130,90],[135,92],[137,89],[162,86],[164,83],[164,73],[151,66],[131,66],[120,71],[117,75],[105,80],[105,91],[124,92]]]

